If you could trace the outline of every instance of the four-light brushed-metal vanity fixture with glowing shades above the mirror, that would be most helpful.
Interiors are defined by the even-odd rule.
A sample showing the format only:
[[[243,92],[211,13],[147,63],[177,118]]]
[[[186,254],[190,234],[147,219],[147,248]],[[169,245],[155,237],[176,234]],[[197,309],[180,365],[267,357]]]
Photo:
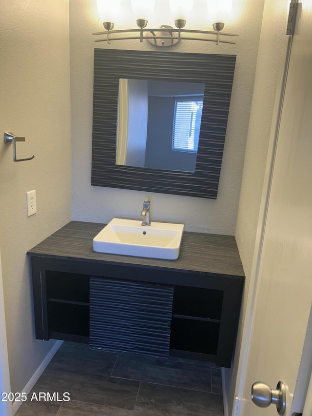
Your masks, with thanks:
[[[96,32],[92,35],[106,35],[105,39],[97,39],[96,42],[110,43],[112,40],[134,40],[143,42],[143,35],[155,46],[172,46],[183,40],[203,40],[209,42],[231,43],[230,40],[221,40],[220,37],[239,36],[235,33],[222,32],[223,20],[231,11],[233,0],[207,0],[208,14],[216,20],[213,23],[213,31],[184,29],[188,13],[192,10],[193,0],[169,0],[170,9],[175,17],[176,28],[168,25],[161,25],[159,28],[147,28],[148,19],[151,16],[155,0],[131,0],[132,9],[137,21],[137,28],[114,30],[113,20],[117,18],[120,7],[120,0],[97,0],[98,11],[103,21],[106,32]],[[138,35],[137,35],[138,34]],[[183,34],[183,36],[182,36]],[[188,34],[189,36],[184,36]],[[112,36],[113,35],[113,36]],[[117,35],[117,36],[116,36]],[[190,36],[191,35],[191,36]],[[201,35],[194,37],[193,35]]]

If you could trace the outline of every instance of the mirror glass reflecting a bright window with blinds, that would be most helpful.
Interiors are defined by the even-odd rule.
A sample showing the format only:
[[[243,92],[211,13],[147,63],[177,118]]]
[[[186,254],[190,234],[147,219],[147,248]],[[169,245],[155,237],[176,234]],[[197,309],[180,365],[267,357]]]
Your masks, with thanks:
[[[204,83],[119,79],[116,164],[195,172]]]

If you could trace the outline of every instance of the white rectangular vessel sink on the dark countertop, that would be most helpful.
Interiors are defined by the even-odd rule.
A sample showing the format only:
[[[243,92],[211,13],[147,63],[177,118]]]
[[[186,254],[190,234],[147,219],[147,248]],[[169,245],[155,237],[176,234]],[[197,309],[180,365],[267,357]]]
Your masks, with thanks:
[[[151,222],[141,225],[136,219],[113,218],[93,239],[99,253],[164,258],[179,256],[184,224]]]

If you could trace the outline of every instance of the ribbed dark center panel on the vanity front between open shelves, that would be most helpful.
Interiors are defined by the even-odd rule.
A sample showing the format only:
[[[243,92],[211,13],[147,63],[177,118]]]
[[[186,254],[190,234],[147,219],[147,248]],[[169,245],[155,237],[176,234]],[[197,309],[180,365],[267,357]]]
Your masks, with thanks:
[[[173,287],[90,277],[90,346],[168,357]]]

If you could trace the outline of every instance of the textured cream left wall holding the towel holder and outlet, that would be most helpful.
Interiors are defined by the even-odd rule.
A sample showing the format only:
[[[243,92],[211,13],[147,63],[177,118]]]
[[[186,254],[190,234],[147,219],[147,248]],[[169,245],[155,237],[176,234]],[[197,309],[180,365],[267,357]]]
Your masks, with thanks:
[[[54,341],[35,339],[26,252],[71,219],[68,0],[1,0],[0,246],[11,388],[22,392]],[[3,136],[2,136],[3,137]],[[27,218],[26,192],[37,192]]]

